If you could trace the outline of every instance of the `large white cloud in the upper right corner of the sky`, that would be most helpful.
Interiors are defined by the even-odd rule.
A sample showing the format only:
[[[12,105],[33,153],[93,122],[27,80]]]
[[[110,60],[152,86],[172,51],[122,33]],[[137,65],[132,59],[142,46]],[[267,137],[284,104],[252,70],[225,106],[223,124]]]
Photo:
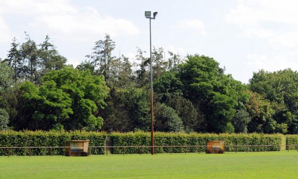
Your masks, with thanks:
[[[292,35],[297,36],[298,29],[297,6],[297,0],[239,0],[224,19],[247,35],[268,39],[270,45],[293,47]],[[291,28],[281,30],[283,26]]]

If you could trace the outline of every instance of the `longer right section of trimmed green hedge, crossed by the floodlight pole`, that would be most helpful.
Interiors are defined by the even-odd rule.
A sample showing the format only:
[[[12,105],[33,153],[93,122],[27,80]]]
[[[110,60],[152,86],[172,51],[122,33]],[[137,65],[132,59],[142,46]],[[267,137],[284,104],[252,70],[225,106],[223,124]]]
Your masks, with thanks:
[[[112,133],[110,135],[112,146],[150,146],[150,133],[129,132]],[[154,133],[155,146],[198,146],[207,145],[207,141],[224,140],[225,145],[285,145],[281,134],[201,134],[201,133]],[[158,147],[156,153],[183,153],[198,152],[198,147]],[[205,152],[206,148],[201,147],[200,151]],[[235,151],[234,147],[226,147],[226,151]],[[246,151],[246,147],[237,147],[237,151]],[[277,151],[278,147],[259,147],[259,151]],[[249,147],[248,151],[257,151],[256,147]],[[127,154],[150,153],[150,148],[125,148]],[[112,148],[112,154],[122,154],[122,148]]]

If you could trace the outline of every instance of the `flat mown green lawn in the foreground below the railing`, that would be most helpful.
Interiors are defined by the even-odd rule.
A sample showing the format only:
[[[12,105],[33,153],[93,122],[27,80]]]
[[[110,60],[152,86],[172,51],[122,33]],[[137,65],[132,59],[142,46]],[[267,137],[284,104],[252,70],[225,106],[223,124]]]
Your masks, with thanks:
[[[298,153],[0,157],[0,179],[295,179]]]

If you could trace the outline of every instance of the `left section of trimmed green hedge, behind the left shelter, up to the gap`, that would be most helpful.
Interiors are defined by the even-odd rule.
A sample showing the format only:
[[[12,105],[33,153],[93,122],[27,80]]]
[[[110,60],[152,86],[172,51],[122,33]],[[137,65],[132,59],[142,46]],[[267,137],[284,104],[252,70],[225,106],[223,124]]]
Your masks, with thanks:
[[[45,131],[0,131],[0,147],[62,147],[70,140],[90,140],[89,146],[104,146],[104,132],[45,132]],[[104,154],[103,148],[90,148],[91,154]],[[29,149],[10,149],[11,155],[28,155]],[[31,149],[32,155],[50,155],[49,149]],[[0,149],[0,156],[7,149]],[[52,149],[52,155],[64,155],[64,149]]]

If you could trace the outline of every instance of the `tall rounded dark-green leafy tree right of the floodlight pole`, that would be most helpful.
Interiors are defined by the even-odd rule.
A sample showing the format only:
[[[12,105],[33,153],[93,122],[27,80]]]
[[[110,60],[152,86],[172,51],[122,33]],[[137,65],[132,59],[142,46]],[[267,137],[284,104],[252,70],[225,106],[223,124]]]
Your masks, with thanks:
[[[199,55],[187,58],[179,69],[183,95],[206,115],[207,131],[230,131],[230,121],[242,99],[239,94],[244,86],[231,75],[224,75],[224,69],[213,58]]]

